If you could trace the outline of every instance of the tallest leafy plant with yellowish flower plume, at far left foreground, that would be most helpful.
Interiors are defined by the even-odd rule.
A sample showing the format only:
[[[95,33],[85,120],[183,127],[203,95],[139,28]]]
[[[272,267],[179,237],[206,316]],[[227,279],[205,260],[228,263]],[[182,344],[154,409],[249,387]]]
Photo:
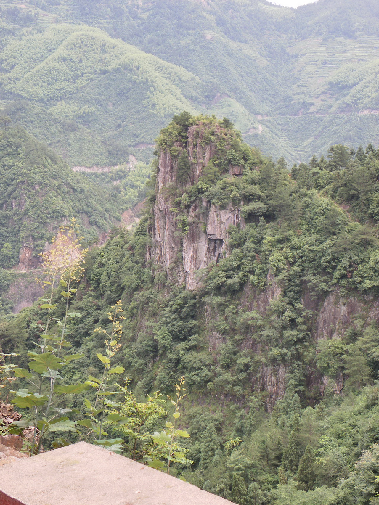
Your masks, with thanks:
[[[46,431],[65,432],[77,431],[76,422],[70,421],[65,408],[64,398],[67,394],[75,394],[87,389],[86,384],[65,384],[62,370],[73,360],[78,360],[82,354],[66,354],[65,349],[71,344],[66,340],[67,321],[69,318],[81,317],[77,312],[69,312],[70,300],[76,293],[76,285],[81,279],[86,249],[83,249],[78,237],[76,220],[71,220],[70,226],[62,226],[58,237],[42,256],[44,278],[38,280],[46,289],[45,298],[40,306],[46,310],[45,323],[32,325],[41,333],[38,352],[29,351],[29,369],[14,368],[16,377],[26,379],[28,388],[11,391],[15,394],[13,403],[20,408],[29,409],[34,419],[34,440],[38,453]],[[53,303],[57,287],[61,286],[61,296],[65,300],[63,317],[55,317],[58,303]],[[20,429],[23,422],[18,424]],[[12,428],[14,426],[10,425]]]

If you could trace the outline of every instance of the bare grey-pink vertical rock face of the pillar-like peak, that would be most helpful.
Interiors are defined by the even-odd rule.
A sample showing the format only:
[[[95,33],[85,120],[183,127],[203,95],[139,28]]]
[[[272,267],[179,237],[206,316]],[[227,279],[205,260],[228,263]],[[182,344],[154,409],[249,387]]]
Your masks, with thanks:
[[[244,227],[240,206],[229,203],[224,208],[198,198],[186,208],[178,210],[175,199],[189,186],[199,183],[204,171],[217,160],[217,143],[222,139],[219,126],[200,124],[188,129],[187,142],[175,142],[174,149],[162,149],[156,179],[156,203],[153,209],[154,246],[150,257],[161,265],[170,279],[195,289],[200,279],[198,272],[228,255],[228,228]],[[212,137],[211,141],[206,141]],[[172,151],[176,156],[172,155]],[[183,162],[184,160],[184,162]],[[186,164],[185,177],[180,173],[180,162]],[[230,177],[242,174],[242,168],[230,164]],[[225,170],[225,173],[227,173]]]

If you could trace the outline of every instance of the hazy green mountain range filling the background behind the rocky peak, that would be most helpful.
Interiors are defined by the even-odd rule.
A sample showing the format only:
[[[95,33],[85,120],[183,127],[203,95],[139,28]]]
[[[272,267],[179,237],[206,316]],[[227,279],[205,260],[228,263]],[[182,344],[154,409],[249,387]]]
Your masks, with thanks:
[[[71,165],[147,161],[183,109],[291,163],[377,141],[375,0],[1,5],[3,106]]]

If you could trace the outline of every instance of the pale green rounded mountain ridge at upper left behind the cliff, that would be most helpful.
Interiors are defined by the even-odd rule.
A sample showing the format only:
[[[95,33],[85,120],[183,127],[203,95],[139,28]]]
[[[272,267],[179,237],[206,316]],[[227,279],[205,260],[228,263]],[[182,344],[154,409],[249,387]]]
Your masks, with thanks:
[[[6,112],[72,165],[125,161],[128,146],[152,144],[169,116],[193,110],[199,87],[184,69],[96,28],[26,34],[0,58],[3,90],[23,99]]]

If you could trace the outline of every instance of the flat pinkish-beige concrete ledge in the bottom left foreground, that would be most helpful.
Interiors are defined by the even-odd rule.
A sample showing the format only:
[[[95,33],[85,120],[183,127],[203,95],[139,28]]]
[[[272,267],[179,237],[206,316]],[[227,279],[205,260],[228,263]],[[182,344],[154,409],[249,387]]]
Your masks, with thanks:
[[[0,505],[79,503],[231,504],[192,484],[85,442],[44,452],[0,468]]]

